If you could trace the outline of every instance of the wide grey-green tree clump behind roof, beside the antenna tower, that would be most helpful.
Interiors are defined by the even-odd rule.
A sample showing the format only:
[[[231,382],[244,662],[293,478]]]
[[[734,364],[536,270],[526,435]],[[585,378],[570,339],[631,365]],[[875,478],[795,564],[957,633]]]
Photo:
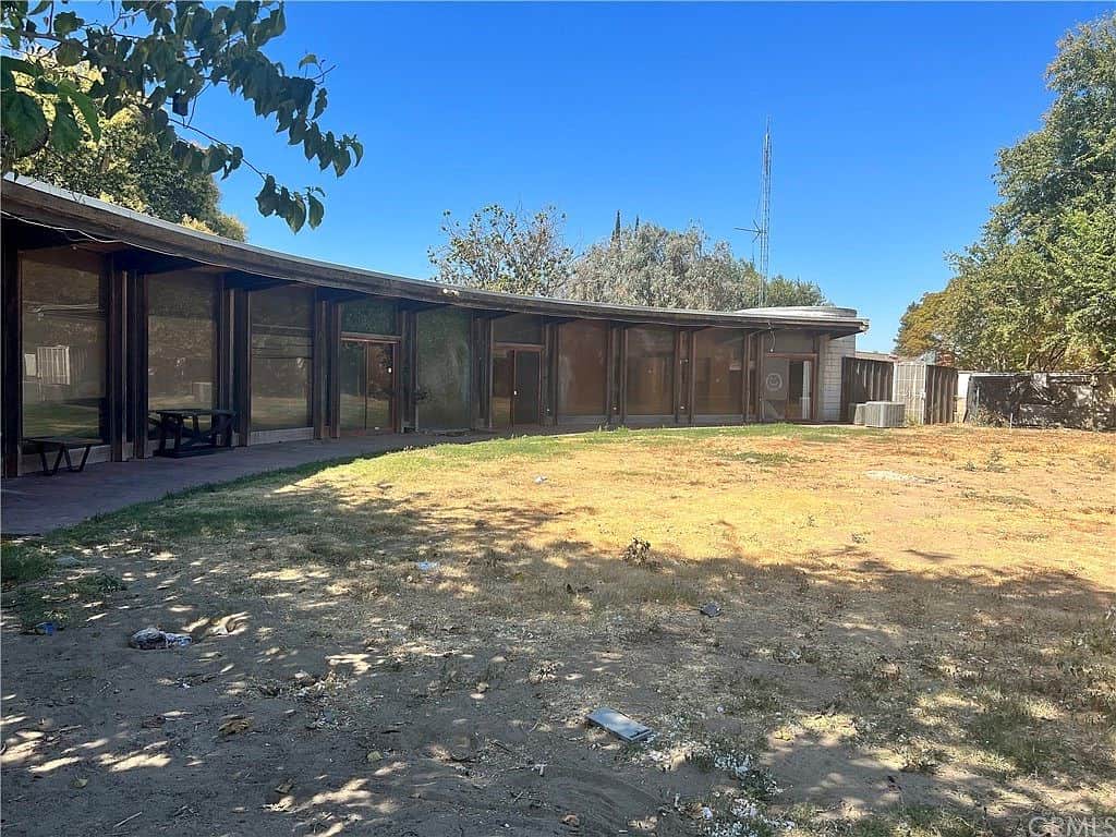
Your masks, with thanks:
[[[575,266],[568,294],[620,305],[735,310],[756,305],[759,278],[728,242],[710,244],[696,224],[675,231],[637,222],[589,248]],[[772,306],[825,302],[817,285],[781,276],[769,281],[766,296]]]

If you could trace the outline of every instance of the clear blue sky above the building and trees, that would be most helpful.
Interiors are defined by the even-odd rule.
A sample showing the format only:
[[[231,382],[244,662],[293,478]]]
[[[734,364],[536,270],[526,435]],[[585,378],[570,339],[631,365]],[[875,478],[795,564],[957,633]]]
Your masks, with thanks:
[[[775,142],[771,268],[817,281],[889,349],[906,305],[949,279],[995,201],[995,152],[1039,125],[1058,38],[1110,4],[373,4],[290,2],[269,48],[336,69],[324,122],[365,145],[321,175],[243,103],[198,124],[291,185],[326,189],[297,235],[260,218],[247,170],[224,209],[253,243],[429,277],[443,210],[567,215],[578,250],[617,210],[752,242]]]

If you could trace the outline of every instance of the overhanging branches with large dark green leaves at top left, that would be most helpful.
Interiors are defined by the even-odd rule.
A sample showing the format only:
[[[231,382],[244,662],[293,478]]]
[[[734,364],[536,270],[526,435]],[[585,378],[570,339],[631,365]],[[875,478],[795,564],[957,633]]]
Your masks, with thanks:
[[[10,52],[0,59],[4,173],[45,146],[66,154],[84,137],[99,141],[108,121],[133,110],[143,133],[187,172],[224,179],[247,166],[262,181],[256,199],[261,214],[278,214],[296,231],[321,223],[319,186],[280,184],[252,165],[240,146],[193,124],[202,93],[224,87],[250,103],[257,116],[275,118],[277,133],[300,145],[323,171],[333,169],[339,177],[359,164],[359,141],[337,137],[319,124],[328,70],[317,57],[299,62],[307,75],[289,75],[264,52],[286,29],[281,2],[125,0],[113,4],[106,22],[59,6],[49,0],[0,3],[0,38]],[[79,65],[93,78],[87,89],[67,73]]]

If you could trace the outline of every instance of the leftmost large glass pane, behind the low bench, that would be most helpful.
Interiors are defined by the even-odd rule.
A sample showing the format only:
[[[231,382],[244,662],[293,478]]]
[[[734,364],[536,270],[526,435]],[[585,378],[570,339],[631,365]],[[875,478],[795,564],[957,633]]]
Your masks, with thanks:
[[[20,257],[25,436],[107,441],[107,283],[76,250]]]

